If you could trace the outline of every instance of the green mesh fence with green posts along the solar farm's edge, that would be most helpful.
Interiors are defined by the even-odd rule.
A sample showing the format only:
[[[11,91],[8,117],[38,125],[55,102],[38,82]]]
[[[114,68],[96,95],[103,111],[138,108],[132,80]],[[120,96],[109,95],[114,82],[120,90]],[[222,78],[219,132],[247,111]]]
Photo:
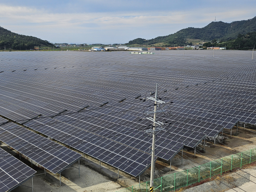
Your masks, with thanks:
[[[240,168],[243,165],[256,161],[256,148],[238,154],[217,159],[185,171],[173,173],[154,179],[154,192],[168,192],[181,187],[189,186],[214,175]],[[150,182],[119,190],[118,192],[150,192]]]

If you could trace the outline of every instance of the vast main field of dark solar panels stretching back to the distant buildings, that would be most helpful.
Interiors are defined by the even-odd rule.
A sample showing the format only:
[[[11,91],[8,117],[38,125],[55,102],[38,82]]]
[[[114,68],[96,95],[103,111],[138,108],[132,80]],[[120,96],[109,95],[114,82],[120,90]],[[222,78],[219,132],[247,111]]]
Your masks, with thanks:
[[[154,106],[142,98],[154,95],[156,83],[159,98],[173,102],[158,107],[167,130],[157,133],[159,158],[169,160],[238,121],[256,124],[250,54],[1,52],[0,115],[136,176],[150,163],[145,130],[152,122],[144,115]],[[131,150],[142,159],[130,158]],[[119,162],[108,162],[110,156]],[[125,169],[128,160],[136,165]]]

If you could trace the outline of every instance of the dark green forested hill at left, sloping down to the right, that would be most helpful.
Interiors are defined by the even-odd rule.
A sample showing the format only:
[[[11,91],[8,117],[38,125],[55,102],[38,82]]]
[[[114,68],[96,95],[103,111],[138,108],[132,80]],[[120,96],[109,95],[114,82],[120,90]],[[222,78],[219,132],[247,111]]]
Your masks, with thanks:
[[[13,49],[13,50],[26,50],[33,49],[35,46],[54,46],[46,40],[42,40],[33,36],[20,35],[13,33],[7,29],[4,29],[0,26],[0,50],[4,49]]]

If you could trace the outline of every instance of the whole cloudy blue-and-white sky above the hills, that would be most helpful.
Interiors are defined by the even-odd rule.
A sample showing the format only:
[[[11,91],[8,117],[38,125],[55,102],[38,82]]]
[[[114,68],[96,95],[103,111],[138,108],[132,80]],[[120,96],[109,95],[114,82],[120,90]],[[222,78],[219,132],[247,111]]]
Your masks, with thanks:
[[[0,26],[58,43],[126,43],[256,16],[255,0],[0,0]]]

